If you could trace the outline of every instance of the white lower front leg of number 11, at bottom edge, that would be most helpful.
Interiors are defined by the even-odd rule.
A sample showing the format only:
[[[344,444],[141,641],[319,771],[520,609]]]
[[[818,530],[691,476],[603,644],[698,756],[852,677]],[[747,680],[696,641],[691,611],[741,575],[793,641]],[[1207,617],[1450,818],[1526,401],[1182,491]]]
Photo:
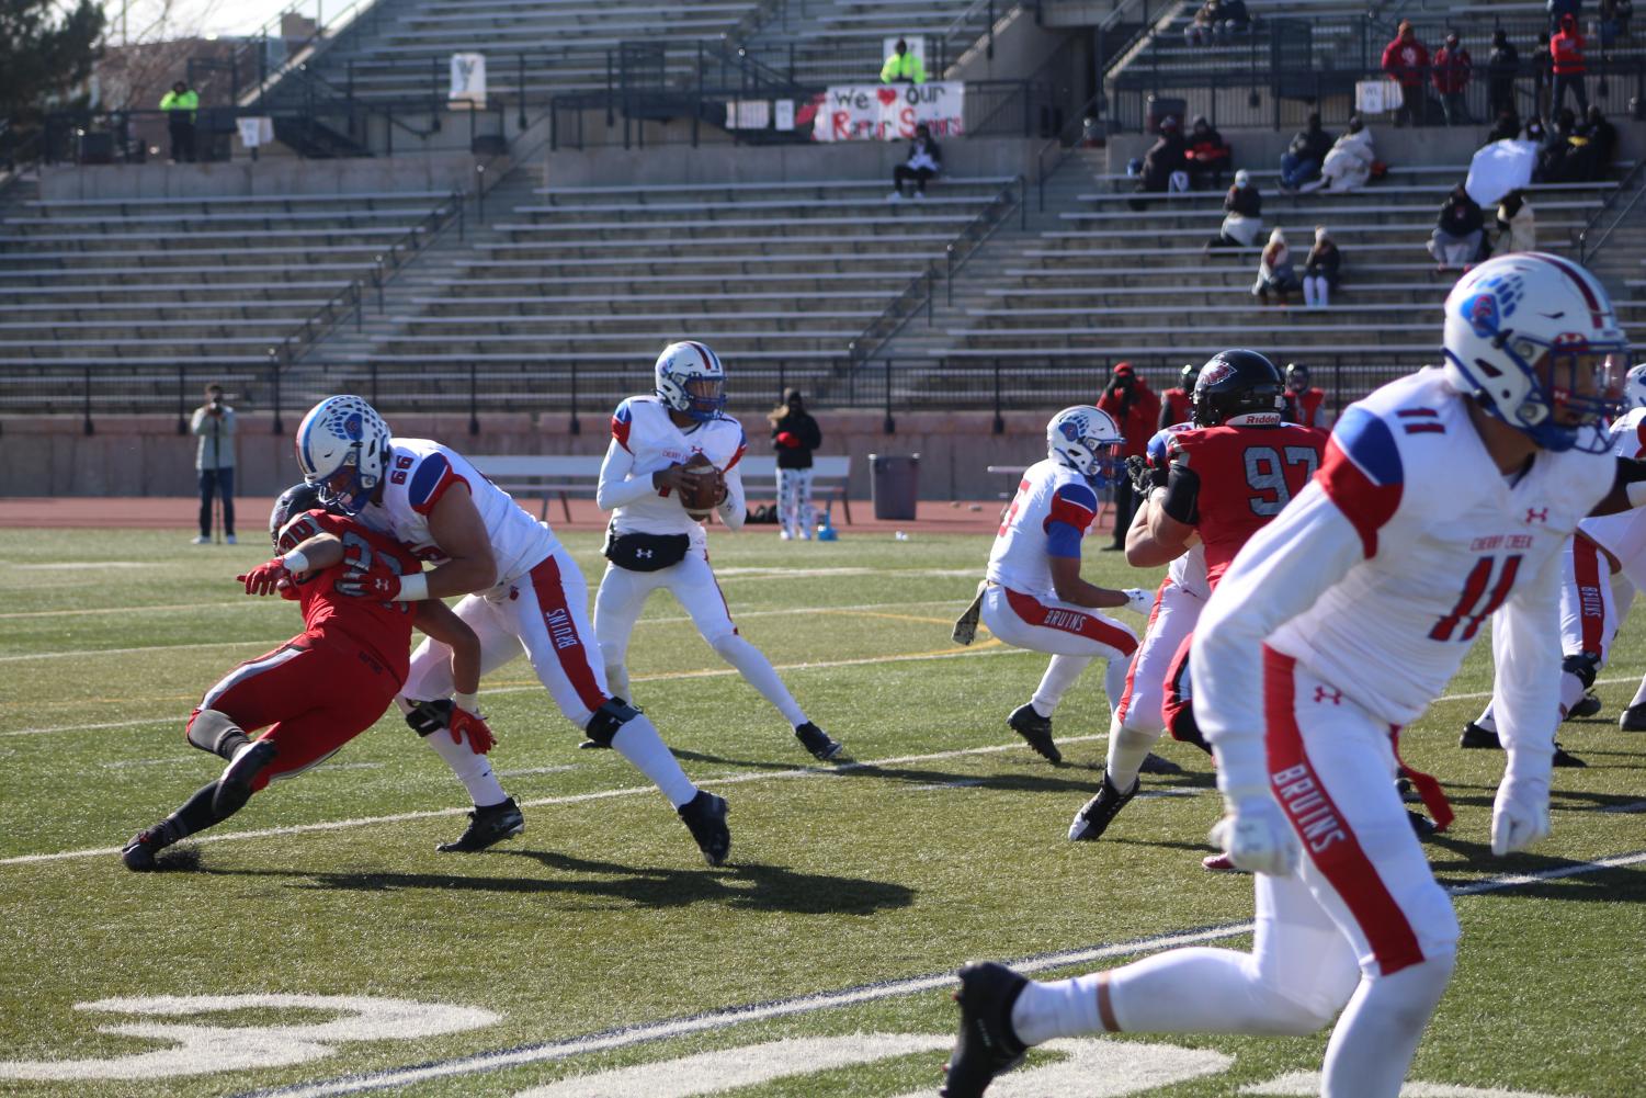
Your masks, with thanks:
[[[1444,953],[1393,976],[1360,981],[1327,1044],[1327,1098],[1399,1093],[1455,961],[1453,953]]]

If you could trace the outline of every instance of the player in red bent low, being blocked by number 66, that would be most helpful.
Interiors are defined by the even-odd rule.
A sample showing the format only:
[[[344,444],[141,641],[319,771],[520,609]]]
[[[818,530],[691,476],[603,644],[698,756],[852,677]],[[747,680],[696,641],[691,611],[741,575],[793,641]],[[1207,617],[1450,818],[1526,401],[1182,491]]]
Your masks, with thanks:
[[[120,851],[127,869],[155,868],[155,854],[222,823],[270,780],[319,765],[377,723],[405,683],[412,627],[451,647],[458,693],[451,737],[484,752],[492,733],[479,716],[481,644],[451,609],[357,598],[351,584],[375,568],[413,573],[421,565],[392,538],[352,519],[318,510],[318,492],[288,489],[268,517],[278,556],[235,576],[247,594],[280,594],[303,609],[303,632],[247,660],[206,691],[186,726],[191,746],[229,761],[222,775]],[[356,598],[349,598],[349,596]],[[415,606],[415,611],[413,611]],[[249,733],[267,728],[260,737]]]

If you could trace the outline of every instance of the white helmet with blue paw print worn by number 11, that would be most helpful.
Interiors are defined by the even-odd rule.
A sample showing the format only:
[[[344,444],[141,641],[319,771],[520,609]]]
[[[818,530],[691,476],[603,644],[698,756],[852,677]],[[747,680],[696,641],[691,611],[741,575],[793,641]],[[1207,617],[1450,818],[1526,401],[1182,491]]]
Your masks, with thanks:
[[[1618,412],[1628,349],[1606,288],[1559,255],[1486,260],[1445,300],[1447,380],[1542,449],[1610,448],[1605,423]],[[1577,423],[1557,412],[1575,412]]]

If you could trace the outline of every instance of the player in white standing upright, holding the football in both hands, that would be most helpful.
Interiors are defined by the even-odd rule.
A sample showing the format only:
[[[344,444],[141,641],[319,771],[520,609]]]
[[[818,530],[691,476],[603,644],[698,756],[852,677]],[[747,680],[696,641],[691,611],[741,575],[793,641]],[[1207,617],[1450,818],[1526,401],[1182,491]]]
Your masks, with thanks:
[[[726,370],[706,344],[663,347],[653,369],[657,392],[629,397],[612,413],[612,441],[601,466],[594,499],[612,512],[606,535],[606,576],[594,596],[594,639],[606,682],[619,698],[629,693],[629,637],[652,591],[663,588],[691,616],[714,654],[777,706],[800,744],[820,761],[841,746],[811,723],[772,662],[744,640],[731,621],[726,596],[709,568],[703,519],[686,510],[681,489],[695,476],[718,476],[714,514],[731,530],[747,517],[742,471],[747,448],[742,425],[726,415]],[[703,466],[703,463],[708,463]],[[709,472],[693,472],[698,463]]]

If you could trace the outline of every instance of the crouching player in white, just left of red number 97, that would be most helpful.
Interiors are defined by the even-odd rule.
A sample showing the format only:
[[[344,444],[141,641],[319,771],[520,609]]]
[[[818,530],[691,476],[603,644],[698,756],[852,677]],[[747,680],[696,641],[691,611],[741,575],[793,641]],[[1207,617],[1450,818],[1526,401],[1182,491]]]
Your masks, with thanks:
[[[1052,654],[1034,696],[1006,718],[1050,762],[1063,761],[1052,739],[1052,714],[1091,660],[1108,662],[1103,685],[1111,713],[1126,690],[1137,635],[1096,611],[1149,609],[1147,591],[1113,591],[1080,578],[1080,543],[1098,517],[1098,489],[1123,474],[1124,443],[1114,420],[1090,405],[1052,416],[1045,426],[1047,458],[1024,471],[974,604],[983,624],[1006,644]]]

